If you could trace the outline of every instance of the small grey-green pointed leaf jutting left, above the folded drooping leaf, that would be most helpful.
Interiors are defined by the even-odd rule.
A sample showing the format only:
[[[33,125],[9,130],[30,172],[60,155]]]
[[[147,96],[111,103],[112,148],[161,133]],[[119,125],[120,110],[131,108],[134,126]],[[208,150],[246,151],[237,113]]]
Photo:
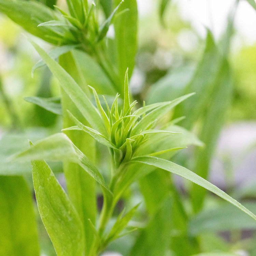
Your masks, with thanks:
[[[62,115],[60,98],[26,97],[24,100],[41,106],[56,115]]]

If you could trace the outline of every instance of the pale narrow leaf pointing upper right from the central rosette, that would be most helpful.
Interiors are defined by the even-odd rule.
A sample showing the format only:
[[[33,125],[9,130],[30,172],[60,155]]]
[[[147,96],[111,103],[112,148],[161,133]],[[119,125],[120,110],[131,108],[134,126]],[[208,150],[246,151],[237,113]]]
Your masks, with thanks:
[[[145,130],[148,124],[154,122],[157,118],[160,118],[165,113],[170,111],[174,106],[179,104],[180,102],[184,101],[185,99],[189,98],[190,96],[194,95],[194,93],[184,95],[180,98],[177,98],[173,101],[167,102],[163,106],[159,106],[158,108],[152,110],[150,113],[145,115],[132,129],[132,135],[135,135],[140,132],[140,130]]]

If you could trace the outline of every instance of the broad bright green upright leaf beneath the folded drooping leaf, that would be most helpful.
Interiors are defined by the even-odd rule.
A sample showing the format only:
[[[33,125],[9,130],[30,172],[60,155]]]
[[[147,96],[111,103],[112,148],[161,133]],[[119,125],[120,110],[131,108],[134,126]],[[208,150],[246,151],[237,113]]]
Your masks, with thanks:
[[[39,213],[57,255],[83,256],[83,225],[67,194],[45,161],[31,161],[31,167]]]

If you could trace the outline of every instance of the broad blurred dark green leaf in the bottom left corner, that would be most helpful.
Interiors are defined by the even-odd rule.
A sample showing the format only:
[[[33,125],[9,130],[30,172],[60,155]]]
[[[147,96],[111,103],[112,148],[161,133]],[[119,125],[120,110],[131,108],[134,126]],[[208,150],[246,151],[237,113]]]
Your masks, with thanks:
[[[0,176],[0,205],[0,255],[39,256],[32,197],[23,177]]]

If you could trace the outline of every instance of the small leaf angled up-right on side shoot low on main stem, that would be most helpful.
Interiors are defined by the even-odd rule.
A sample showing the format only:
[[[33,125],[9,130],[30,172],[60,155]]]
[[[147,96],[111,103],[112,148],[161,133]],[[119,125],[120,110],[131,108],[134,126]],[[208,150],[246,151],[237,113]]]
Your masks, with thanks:
[[[130,219],[132,218],[132,216],[134,215],[134,213],[136,212],[137,208],[139,207],[140,204],[137,204],[136,206],[134,206],[129,212],[127,212],[123,217],[122,217],[122,213],[120,213],[120,215],[118,216],[114,226],[112,227],[112,229],[110,230],[108,237],[105,240],[105,243],[108,244],[111,241],[115,240],[120,232],[123,231],[123,229],[126,228],[128,222],[130,221]]]

